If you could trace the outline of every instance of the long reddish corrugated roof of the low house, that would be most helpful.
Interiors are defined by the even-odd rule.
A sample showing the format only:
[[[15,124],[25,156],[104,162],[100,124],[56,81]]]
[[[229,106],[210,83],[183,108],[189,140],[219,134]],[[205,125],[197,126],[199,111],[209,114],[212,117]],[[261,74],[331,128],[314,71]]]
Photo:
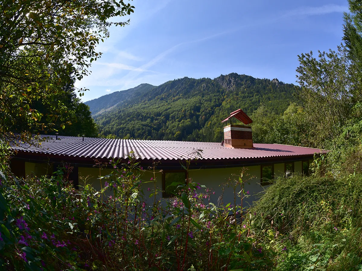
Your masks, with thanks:
[[[127,158],[131,151],[136,159],[177,160],[195,157],[202,150],[202,159],[246,159],[277,156],[312,155],[319,149],[280,144],[254,144],[253,149],[231,149],[215,142],[107,139],[85,137],[41,136],[47,138],[40,146],[20,143],[14,150],[85,158]]]

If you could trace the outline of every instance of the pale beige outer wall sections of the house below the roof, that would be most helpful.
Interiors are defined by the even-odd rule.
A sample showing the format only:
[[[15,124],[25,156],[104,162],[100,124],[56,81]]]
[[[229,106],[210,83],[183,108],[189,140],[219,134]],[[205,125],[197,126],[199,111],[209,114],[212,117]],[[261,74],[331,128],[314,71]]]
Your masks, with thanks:
[[[274,178],[275,180],[279,177],[284,176],[284,163],[274,164]],[[233,168],[210,168],[210,169],[198,169],[198,170],[190,170],[189,177],[192,178],[194,182],[198,182],[202,185],[205,185],[207,188],[212,189],[212,194],[210,197],[210,202],[217,205],[218,198],[223,195],[223,202],[227,204],[228,202],[234,201],[234,192],[232,185],[228,185],[228,179],[230,180],[236,179],[238,180],[238,176],[240,176],[241,172],[243,172],[243,180],[245,180],[244,190],[249,191],[249,198],[244,200],[244,206],[248,206],[252,204],[253,201],[258,199],[258,193],[264,191],[269,185],[261,186],[260,185],[260,177],[261,177],[261,166],[249,166],[249,167],[233,167]],[[106,176],[111,173],[111,169],[101,169],[99,168],[85,168],[79,167],[79,185],[84,186],[85,183],[92,184],[96,190],[104,187],[104,182],[111,182],[112,177],[106,179],[98,179],[100,174],[101,176]],[[302,172],[302,161],[298,161],[294,163],[294,171],[297,173]],[[26,176],[41,176],[46,174],[51,174],[53,172],[52,167],[50,167],[47,163],[29,163],[25,162],[25,173]],[[157,198],[162,197],[162,173],[156,172],[155,175],[153,172],[146,171],[142,173],[142,188],[145,194],[145,200],[150,202],[153,201],[153,197],[149,198],[149,195],[153,193],[154,186],[160,190],[160,193]],[[155,178],[155,180],[151,181],[151,178]],[[151,191],[147,191],[148,188]],[[223,190],[224,189],[224,190]],[[240,186],[236,189],[236,192],[240,191]],[[237,204],[240,204],[240,199],[237,198]]]

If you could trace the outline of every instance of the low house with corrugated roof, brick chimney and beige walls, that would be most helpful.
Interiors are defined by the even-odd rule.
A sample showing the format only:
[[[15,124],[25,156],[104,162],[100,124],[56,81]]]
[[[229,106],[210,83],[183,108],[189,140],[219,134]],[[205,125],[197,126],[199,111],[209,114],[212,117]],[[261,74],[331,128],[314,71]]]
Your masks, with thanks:
[[[241,109],[232,112],[222,122],[234,118],[246,125],[252,123]],[[40,146],[27,143],[13,146],[17,151],[11,160],[14,174],[22,177],[51,174],[59,163],[65,162],[73,167],[69,177],[76,186],[83,185],[82,177],[89,176],[88,183],[99,189],[99,175],[108,175],[111,169],[95,167],[95,159],[108,165],[112,158],[121,158],[127,163],[128,156],[133,153],[135,161],[144,169],[155,168],[156,173],[152,170],[144,172],[143,179],[156,177],[156,184],[162,188],[163,197],[169,197],[169,184],[173,181],[184,181],[188,177],[212,188],[215,194],[211,194],[211,201],[215,204],[222,194],[224,203],[233,201],[232,188],[222,184],[228,178],[233,178],[233,175],[240,174],[243,168],[246,170],[244,178],[250,178],[244,189],[249,191],[251,197],[248,202],[252,203],[256,194],[268,187],[274,179],[290,175],[291,172],[308,174],[313,155],[326,152],[298,146],[256,144],[253,143],[250,126],[232,124],[224,127],[222,143],[45,135],[41,137],[47,140]],[[182,166],[185,166],[187,161],[188,176]],[[149,193],[147,186],[149,184],[144,184],[146,198]]]

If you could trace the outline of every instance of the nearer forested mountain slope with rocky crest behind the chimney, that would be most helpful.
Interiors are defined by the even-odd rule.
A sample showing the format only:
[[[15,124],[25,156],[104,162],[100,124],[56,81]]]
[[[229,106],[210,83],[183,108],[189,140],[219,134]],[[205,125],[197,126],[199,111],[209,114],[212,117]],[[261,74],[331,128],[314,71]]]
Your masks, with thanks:
[[[182,78],[143,91],[95,116],[101,134],[121,138],[220,142],[221,120],[241,108],[251,114],[261,103],[284,112],[295,86],[277,79],[231,73],[215,79]]]

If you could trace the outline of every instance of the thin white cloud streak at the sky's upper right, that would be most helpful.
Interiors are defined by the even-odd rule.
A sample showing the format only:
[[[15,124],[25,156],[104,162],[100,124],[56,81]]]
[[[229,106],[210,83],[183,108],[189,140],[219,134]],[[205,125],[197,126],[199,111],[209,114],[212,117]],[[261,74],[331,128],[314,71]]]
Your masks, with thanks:
[[[345,11],[348,11],[348,6],[329,4],[320,7],[300,7],[298,9],[290,10],[283,17],[298,16],[298,15],[302,16],[325,15],[335,12],[342,13]]]

